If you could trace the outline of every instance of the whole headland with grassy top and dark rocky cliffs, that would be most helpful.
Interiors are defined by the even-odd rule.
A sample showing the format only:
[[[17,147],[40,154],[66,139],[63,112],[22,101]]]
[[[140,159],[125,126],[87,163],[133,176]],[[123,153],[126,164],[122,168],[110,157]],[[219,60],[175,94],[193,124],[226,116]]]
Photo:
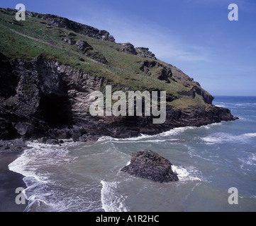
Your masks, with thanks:
[[[24,23],[13,23],[13,15],[0,10],[0,139],[126,138],[237,119],[148,48],[115,43],[106,31],[59,16],[27,12]],[[165,123],[152,124],[152,116],[92,117],[89,95],[104,93],[106,85],[124,92],[165,90]]]

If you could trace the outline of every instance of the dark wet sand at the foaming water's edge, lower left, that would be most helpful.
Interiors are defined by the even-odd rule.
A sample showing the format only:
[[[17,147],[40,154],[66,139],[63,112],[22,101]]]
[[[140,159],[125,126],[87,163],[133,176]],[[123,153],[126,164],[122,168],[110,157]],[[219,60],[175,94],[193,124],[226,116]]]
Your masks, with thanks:
[[[26,204],[16,204],[15,194],[16,188],[23,187],[26,189],[26,184],[23,182],[23,175],[11,172],[8,165],[16,160],[21,153],[0,153],[0,212],[23,212]]]

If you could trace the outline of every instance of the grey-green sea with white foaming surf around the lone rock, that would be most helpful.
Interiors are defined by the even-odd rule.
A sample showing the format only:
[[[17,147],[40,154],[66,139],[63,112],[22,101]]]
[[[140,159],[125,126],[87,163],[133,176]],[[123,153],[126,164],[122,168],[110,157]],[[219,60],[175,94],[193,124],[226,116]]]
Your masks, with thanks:
[[[216,97],[213,104],[240,119],[137,138],[30,142],[9,165],[24,175],[25,211],[256,211],[256,97]],[[141,149],[170,160],[179,182],[121,172]],[[238,189],[238,204],[228,203],[230,187]]]

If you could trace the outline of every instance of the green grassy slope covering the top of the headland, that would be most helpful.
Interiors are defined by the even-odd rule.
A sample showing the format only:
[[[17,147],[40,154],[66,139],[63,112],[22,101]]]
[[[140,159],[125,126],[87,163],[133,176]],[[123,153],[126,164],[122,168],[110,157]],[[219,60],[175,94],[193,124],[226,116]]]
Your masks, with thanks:
[[[70,49],[81,54],[81,52],[79,52],[77,49],[76,44],[69,45],[61,40],[61,38],[68,39],[67,34],[70,32],[70,30],[58,28],[53,25],[51,25],[52,28],[46,28],[48,23],[50,25],[50,22],[40,18],[26,18],[25,21],[18,22],[15,20],[15,16],[3,12],[6,12],[5,9],[0,10],[0,24],[25,35],[29,35],[30,37],[35,37],[45,42],[50,42],[59,47]],[[84,40],[88,42],[94,48],[94,54],[98,54],[99,57],[105,57],[109,65],[148,76],[143,71],[140,71],[140,62],[147,60],[147,58],[135,56],[125,52],[118,52],[116,49],[120,49],[121,44],[96,40],[79,33],[75,34],[77,36],[73,37],[74,40]],[[177,92],[181,90],[189,90],[189,88],[185,87],[184,83],[181,81],[177,80],[178,83],[175,83],[174,81],[170,80],[171,84],[176,86],[174,88],[160,81],[154,81],[142,76],[137,76],[133,73],[109,68],[101,64],[96,64],[93,61],[86,60],[82,62],[79,61],[80,57],[75,54],[66,52],[62,49],[57,49],[55,47],[50,47],[47,44],[36,42],[35,40],[30,40],[27,37],[16,35],[15,33],[11,32],[11,30],[3,27],[0,29],[0,52],[11,59],[20,58],[24,61],[30,61],[31,59],[39,56],[43,56],[45,59],[54,59],[55,61],[60,61],[62,64],[74,66],[77,69],[91,73],[94,76],[104,77],[113,83],[119,83],[123,85],[126,90],[143,91],[155,88],[165,90],[167,95],[179,97],[178,100],[167,103],[168,105],[172,105],[177,109],[183,109],[189,106],[205,105],[204,100],[199,95],[196,95],[194,99],[179,95]],[[148,60],[151,61],[152,59]],[[79,65],[77,65],[77,63],[79,63]],[[160,63],[162,64],[162,61],[160,61]],[[151,72],[152,77],[154,78],[154,71]]]

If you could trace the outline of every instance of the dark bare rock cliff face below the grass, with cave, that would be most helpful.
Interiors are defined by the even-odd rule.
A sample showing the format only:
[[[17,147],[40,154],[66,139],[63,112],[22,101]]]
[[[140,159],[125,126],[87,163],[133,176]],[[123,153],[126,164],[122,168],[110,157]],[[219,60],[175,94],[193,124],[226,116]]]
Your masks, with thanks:
[[[125,138],[235,119],[228,109],[213,105],[184,110],[167,106],[165,124],[152,124],[152,117],[92,117],[89,95],[110,81],[42,57],[23,62],[0,56],[0,138]]]

